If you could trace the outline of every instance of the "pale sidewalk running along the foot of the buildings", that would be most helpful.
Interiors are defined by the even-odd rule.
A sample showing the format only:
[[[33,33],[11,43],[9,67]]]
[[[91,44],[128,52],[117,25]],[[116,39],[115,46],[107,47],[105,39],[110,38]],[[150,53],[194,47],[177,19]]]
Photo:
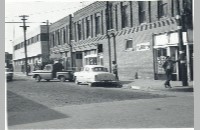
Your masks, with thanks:
[[[33,79],[32,74],[26,76],[22,72],[14,72],[14,76]],[[144,91],[182,91],[182,92],[193,92],[193,81],[188,82],[188,86],[182,86],[182,81],[170,81],[172,88],[164,87],[165,80],[153,80],[153,79],[134,79],[127,81],[120,81],[123,89],[135,89]]]

